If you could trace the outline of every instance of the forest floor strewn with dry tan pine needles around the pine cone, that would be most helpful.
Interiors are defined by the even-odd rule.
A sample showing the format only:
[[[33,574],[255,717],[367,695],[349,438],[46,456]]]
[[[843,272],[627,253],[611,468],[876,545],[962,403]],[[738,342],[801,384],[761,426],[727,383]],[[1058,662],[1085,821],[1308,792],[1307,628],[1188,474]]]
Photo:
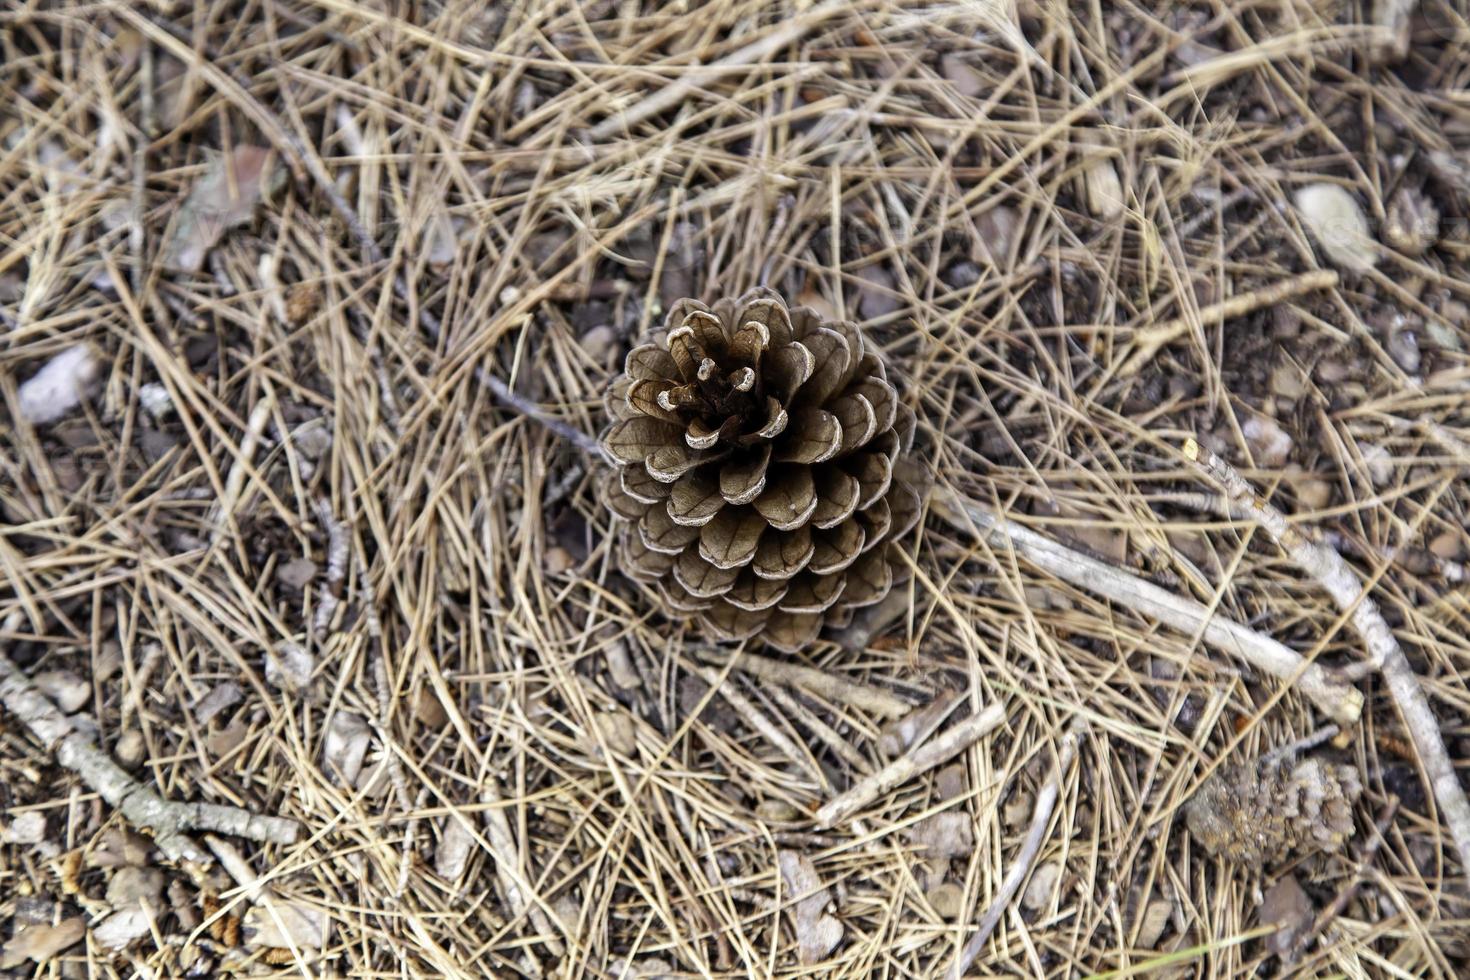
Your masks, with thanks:
[[[1452,0],[6,4],[0,976],[1466,976],[1454,786],[1185,448],[1470,782],[1467,85]],[[588,451],[757,284],[935,482],[888,621],[773,666]],[[1332,720],[1352,836],[1207,852]]]

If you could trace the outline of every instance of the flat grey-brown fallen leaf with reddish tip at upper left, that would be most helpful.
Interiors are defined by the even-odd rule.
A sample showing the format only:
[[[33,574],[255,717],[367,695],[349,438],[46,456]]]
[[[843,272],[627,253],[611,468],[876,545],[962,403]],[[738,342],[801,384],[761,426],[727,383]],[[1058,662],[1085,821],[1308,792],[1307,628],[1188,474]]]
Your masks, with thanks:
[[[165,264],[197,272],[225,232],[250,220],[260,198],[285,179],[269,147],[235,147],[215,157],[173,223]]]

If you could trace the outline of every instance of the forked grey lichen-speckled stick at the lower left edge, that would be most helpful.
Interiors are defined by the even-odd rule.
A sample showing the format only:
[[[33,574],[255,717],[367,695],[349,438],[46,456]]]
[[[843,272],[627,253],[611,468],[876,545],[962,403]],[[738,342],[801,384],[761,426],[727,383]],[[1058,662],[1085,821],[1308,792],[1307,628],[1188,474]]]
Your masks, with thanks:
[[[43,745],[54,746],[57,763],[81,776],[134,826],[150,830],[159,849],[175,861],[209,864],[209,855],[188,837],[190,830],[213,830],[265,843],[295,843],[300,836],[300,824],[285,817],[163,799],[78,732],[4,654],[0,654],[0,701]]]

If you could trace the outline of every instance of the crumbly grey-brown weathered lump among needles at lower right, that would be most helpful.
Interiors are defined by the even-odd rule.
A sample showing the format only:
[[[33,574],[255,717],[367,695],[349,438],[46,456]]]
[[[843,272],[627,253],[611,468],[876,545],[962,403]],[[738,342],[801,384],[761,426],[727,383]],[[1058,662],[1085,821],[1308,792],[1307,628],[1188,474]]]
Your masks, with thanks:
[[[1317,758],[1225,765],[1185,808],[1189,833],[1210,854],[1255,870],[1288,854],[1336,851],[1352,836],[1358,770]]]

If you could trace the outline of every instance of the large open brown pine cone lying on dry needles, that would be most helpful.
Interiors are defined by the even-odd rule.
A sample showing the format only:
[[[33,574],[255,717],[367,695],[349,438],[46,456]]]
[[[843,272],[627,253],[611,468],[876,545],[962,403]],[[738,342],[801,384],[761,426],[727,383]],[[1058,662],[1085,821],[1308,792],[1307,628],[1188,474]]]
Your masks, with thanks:
[[[679,300],[607,392],[603,485],[623,570],[716,639],[795,651],[882,599],[919,519],[913,442],[857,326],[770,289]]]

